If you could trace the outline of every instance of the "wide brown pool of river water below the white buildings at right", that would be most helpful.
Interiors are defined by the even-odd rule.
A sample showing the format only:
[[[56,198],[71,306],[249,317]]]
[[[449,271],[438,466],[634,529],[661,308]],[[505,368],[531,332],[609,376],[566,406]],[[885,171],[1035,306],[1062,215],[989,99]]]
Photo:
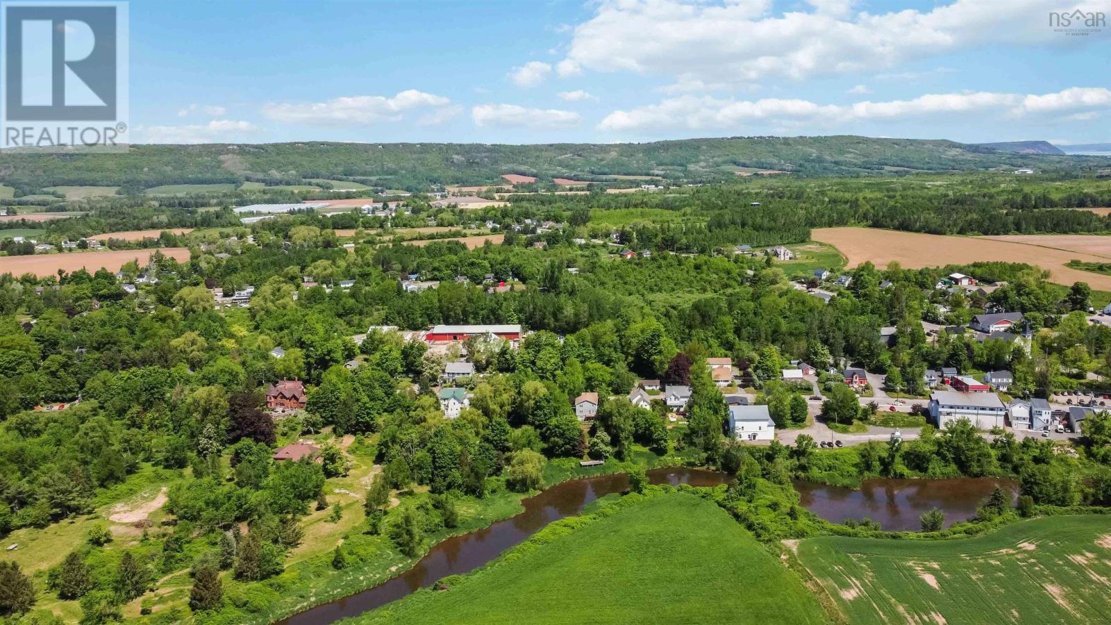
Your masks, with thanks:
[[[997,486],[1018,496],[1013,479],[961,477],[955,479],[865,479],[859,490],[813,482],[795,482],[802,505],[818,516],[841,523],[864,517],[880,523],[883,529],[922,528],[919,516],[938,507],[945,513],[945,527],[975,516],[975,508]]]

